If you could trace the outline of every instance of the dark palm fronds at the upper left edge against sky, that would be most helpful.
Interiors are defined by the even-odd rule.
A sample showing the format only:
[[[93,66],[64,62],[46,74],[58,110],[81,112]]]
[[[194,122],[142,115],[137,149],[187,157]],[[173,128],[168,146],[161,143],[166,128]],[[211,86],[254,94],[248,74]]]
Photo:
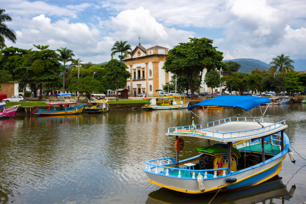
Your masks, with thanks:
[[[0,9],[0,35],[16,43],[16,33],[13,29],[8,28],[8,25],[5,23],[6,21],[12,21],[12,18],[5,13],[4,9]]]

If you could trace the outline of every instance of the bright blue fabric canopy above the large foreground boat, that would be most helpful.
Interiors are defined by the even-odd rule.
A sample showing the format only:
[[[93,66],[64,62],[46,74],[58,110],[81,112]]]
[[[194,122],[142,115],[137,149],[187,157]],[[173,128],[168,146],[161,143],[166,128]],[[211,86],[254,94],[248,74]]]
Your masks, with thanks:
[[[254,107],[268,103],[270,103],[270,99],[266,97],[243,96],[243,95],[221,95],[213,99],[202,100],[197,105],[188,106],[187,109],[190,111],[198,106],[227,106],[227,107],[238,107],[246,111],[249,111]]]

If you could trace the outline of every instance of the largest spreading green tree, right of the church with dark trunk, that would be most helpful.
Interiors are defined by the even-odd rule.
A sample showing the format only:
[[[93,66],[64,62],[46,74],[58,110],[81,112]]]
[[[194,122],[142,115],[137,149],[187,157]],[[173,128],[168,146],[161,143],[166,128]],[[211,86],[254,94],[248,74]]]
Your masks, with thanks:
[[[201,85],[203,69],[221,68],[227,70],[227,65],[222,62],[223,53],[213,47],[213,40],[208,38],[189,38],[190,42],[179,43],[169,50],[169,56],[163,69],[166,72],[177,74],[177,77],[185,76],[191,89],[192,97],[194,91]],[[200,80],[198,80],[200,79]]]

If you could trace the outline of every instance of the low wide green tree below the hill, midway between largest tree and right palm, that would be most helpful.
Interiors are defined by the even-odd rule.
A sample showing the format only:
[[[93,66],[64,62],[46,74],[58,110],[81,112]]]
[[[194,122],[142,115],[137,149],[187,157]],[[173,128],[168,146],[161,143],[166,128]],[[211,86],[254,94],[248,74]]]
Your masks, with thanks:
[[[239,91],[242,95],[247,90],[248,73],[232,72],[231,75],[227,75],[221,78],[222,82],[226,84],[226,90]]]

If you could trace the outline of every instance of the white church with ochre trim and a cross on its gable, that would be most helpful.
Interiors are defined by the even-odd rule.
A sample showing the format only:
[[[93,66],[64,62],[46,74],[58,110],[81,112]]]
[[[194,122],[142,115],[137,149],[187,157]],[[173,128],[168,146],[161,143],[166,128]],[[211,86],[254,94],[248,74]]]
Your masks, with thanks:
[[[156,90],[162,90],[163,85],[171,81],[172,74],[162,69],[168,48],[156,45],[146,49],[139,43],[131,53],[132,56],[127,55],[123,60],[129,67],[127,71],[132,74],[132,78],[127,79],[126,89],[130,90],[132,96],[143,92],[150,96],[156,95]]]

